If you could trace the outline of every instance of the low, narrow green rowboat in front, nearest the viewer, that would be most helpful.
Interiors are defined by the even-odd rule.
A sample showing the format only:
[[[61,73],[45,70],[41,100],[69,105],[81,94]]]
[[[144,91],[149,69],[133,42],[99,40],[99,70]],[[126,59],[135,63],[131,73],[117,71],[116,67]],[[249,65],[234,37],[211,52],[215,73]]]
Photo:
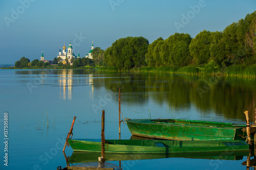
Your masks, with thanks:
[[[105,140],[105,153],[191,153],[248,151],[242,140]],[[75,152],[101,152],[100,139],[69,139]]]

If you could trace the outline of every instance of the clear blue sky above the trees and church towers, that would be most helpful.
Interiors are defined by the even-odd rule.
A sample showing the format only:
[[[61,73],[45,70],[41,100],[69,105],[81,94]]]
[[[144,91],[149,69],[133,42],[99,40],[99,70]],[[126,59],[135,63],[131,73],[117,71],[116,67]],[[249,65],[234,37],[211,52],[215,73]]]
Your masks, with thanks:
[[[127,36],[151,43],[176,32],[195,37],[223,29],[256,10],[255,0],[1,0],[0,64],[53,60],[71,41],[75,55],[105,48]]]

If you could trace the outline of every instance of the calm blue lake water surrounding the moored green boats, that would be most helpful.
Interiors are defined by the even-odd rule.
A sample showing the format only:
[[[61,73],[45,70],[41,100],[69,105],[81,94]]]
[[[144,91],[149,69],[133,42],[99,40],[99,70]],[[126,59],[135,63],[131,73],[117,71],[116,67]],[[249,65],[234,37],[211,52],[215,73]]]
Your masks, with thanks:
[[[73,117],[72,138],[118,139],[118,89],[127,118],[181,118],[245,124],[252,113],[256,81],[168,73],[116,73],[87,70],[0,70],[0,169],[65,167],[63,144]],[[8,134],[4,136],[4,115]],[[252,114],[250,114],[252,119]],[[8,138],[8,151],[5,149]],[[121,124],[121,139],[131,133]],[[71,147],[66,155],[72,155]],[[3,158],[8,153],[8,166]],[[121,161],[124,169],[246,169],[240,160],[164,158]],[[95,160],[97,161],[97,160]],[[110,161],[119,165],[119,161]]]

